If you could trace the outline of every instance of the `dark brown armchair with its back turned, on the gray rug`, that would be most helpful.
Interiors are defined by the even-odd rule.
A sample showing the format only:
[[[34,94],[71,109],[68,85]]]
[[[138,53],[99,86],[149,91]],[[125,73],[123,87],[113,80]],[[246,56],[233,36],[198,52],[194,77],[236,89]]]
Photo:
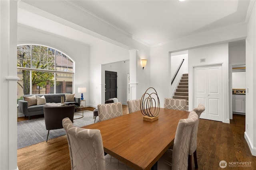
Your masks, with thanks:
[[[48,105],[44,106],[44,121],[46,130],[48,130],[46,142],[48,141],[48,136],[50,130],[62,129],[62,119],[69,117],[73,122],[74,119],[75,105],[58,106],[58,105]]]

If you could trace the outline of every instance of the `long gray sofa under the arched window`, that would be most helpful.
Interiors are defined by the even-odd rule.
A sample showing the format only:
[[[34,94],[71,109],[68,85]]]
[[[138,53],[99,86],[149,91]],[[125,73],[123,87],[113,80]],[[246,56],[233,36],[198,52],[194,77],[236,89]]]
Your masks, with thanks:
[[[66,93],[67,94],[67,93]],[[60,103],[61,97],[64,96],[64,93],[60,94],[36,94],[36,95],[24,95],[24,96],[44,96],[47,103]],[[74,104],[76,107],[80,106],[80,98],[74,98],[74,102],[65,102],[66,105]],[[28,116],[28,119],[31,119],[31,116],[33,115],[42,115],[44,114],[44,107],[45,104],[41,105],[33,105],[28,107],[28,102],[24,100],[18,101],[18,109],[21,113],[23,113],[26,116]]]

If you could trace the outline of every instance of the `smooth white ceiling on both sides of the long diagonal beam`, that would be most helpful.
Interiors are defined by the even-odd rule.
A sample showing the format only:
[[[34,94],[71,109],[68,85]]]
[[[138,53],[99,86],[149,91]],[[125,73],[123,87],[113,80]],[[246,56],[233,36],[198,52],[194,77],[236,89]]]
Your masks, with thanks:
[[[73,4],[149,46],[246,21],[248,0],[78,0]],[[88,45],[100,39],[19,8],[18,23]],[[47,27],[49,24],[54,25]],[[60,29],[61,28],[61,29]],[[60,31],[61,30],[61,31]]]

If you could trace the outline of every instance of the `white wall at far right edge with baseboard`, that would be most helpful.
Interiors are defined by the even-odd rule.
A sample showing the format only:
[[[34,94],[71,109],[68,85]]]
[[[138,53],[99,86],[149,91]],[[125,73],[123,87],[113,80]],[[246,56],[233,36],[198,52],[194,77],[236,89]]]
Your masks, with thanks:
[[[256,7],[255,1],[246,37],[246,117],[244,137],[256,156]]]

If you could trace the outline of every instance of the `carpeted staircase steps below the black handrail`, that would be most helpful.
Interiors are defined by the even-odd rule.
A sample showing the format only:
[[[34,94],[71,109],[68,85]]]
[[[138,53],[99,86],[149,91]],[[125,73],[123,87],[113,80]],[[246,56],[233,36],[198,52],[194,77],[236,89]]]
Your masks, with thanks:
[[[188,74],[182,74],[180,83],[174,92],[174,99],[186,99],[188,105]],[[188,108],[188,106],[187,106]]]

